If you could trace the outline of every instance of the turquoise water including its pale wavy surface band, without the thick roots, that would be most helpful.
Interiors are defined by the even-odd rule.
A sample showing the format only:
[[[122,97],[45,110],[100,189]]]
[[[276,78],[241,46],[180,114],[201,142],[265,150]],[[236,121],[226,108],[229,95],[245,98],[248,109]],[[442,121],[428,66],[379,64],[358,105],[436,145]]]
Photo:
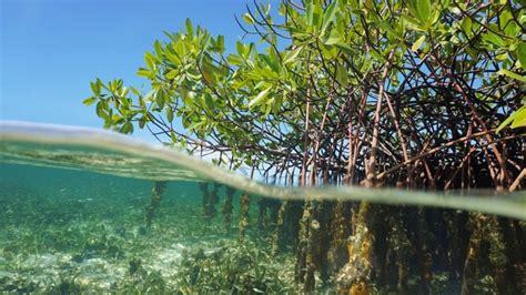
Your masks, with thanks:
[[[292,292],[293,238],[271,253],[284,200],[368,200],[526,220],[523,192],[266,186],[112,133],[22,123],[2,123],[0,132],[0,292]],[[251,206],[240,243],[243,193]]]

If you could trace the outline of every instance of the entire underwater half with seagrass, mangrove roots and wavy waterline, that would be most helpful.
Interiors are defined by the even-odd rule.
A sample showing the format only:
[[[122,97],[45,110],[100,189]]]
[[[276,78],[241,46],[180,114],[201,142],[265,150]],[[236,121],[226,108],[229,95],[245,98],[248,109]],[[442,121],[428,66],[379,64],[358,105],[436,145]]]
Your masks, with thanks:
[[[294,191],[109,132],[0,131],[1,292],[295,294],[308,279],[322,294],[361,281],[373,294],[457,294],[466,279],[477,294],[525,291],[522,192]],[[370,228],[356,225],[364,210]]]

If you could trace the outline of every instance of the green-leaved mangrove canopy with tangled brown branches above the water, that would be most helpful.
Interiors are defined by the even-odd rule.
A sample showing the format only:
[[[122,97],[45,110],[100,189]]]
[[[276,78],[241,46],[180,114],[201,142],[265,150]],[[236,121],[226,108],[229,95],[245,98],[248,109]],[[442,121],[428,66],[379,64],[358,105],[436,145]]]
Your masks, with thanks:
[[[368,154],[362,149],[371,149],[375,129],[395,165],[474,125],[490,130],[520,108],[522,4],[314,0],[273,10],[254,3],[237,21],[257,43],[227,50],[223,35],[186,20],[185,30],[166,32],[168,41],[144,54],[138,74],[148,92],[97,80],[84,103],[97,103],[107,128],[131,133],[138,123],[170,145],[219,153],[215,162],[232,169],[290,174],[314,164],[314,174],[323,166],[342,175],[353,165],[362,173]],[[523,114],[500,126],[524,126]],[[452,125],[457,130],[447,131]]]

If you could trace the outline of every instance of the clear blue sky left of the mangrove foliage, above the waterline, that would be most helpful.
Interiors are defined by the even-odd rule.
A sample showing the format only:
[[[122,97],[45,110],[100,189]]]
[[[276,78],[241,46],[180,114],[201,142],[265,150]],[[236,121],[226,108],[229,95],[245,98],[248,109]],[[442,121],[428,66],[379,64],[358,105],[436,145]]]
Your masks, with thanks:
[[[0,0],[0,118],[102,126],[82,104],[97,78],[135,75],[143,53],[162,33],[194,24],[224,34],[233,48],[242,35],[234,14],[241,0]],[[271,1],[276,3],[277,1]],[[140,133],[140,138],[150,139]]]

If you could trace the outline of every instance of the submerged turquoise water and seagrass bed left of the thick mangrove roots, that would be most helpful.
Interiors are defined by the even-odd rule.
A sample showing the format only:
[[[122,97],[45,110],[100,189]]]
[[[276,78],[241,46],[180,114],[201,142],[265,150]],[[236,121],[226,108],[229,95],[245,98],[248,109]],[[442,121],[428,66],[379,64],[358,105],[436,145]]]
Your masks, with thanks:
[[[265,228],[257,228],[254,210],[243,216],[254,224],[246,225],[246,241],[237,242],[240,201],[234,190],[11,164],[2,165],[1,179],[2,292],[244,293],[292,287],[292,256],[271,256],[271,224],[265,221]],[[212,199],[203,210],[203,190],[209,189]]]

